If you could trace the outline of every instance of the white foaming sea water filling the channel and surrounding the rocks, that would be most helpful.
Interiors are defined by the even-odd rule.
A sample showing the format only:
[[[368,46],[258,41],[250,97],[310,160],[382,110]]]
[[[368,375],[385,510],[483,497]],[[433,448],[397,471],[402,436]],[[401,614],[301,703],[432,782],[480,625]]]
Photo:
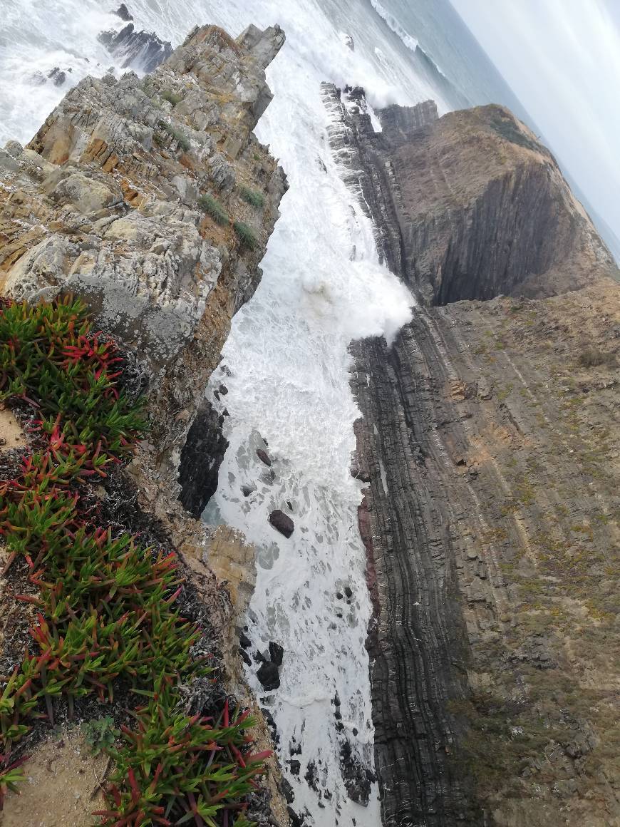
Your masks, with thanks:
[[[284,166],[290,189],[262,263],[263,280],[233,320],[207,390],[227,386],[230,447],[204,519],[241,528],[255,544],[252,651],[277,642],[284,664],[276,691],[262,691],[255,668],[248,680],[277,724],[294,809],[316,827],[379,827],[376,785],[368,806],[356,804],[339,769],[345,744],[372,768],[374,736],[365,650],[370,600],[357,528],[362,486],[349,470],[358,412],[347,346],[370,335],[390,341],[415,309],[408,290],[379,265],[370,220],[331,157],[320,84],[363,85],[374,108],[432,97],[446,112],[492,99],[496,80],[441,0],[127,5],[136,28],[173,45],[207,22],[233,36],[250,22],[279,23],[287,34],[268,69],[274,101],[256,131]],[[112,65],[97,35],[122,25],[110,13],[113,6],[1,0],[0,143],[27,141],[69,84]],[[41,83],[55,66],[67,74],[60,88]],[[265,440],[273,479],[256,456]],[[245,497],[242,485],[255,490]],[[293,518],[289,539],[268,523],[275,508]],[[291,772],[291,757],[301,763],[299,774]]]

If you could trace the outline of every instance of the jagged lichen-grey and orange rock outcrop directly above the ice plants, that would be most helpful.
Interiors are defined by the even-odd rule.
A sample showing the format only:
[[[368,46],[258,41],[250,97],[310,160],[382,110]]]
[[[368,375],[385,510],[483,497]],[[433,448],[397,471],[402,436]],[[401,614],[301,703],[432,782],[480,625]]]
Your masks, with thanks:
[[[271,98],[265,66],[283,42],[277,27],[250,26],[237,41],[197,29],[145,79],[81,81],[2,164],[0,290],[83,295],[136,351],[150,375],[150,479],[161,485],[175,485],[278,217],[284,173],[251,130]],[[265,206],[246,203],[242,185],[264,192]],[[246,222],[255,246],[204,213],[203,195]]]

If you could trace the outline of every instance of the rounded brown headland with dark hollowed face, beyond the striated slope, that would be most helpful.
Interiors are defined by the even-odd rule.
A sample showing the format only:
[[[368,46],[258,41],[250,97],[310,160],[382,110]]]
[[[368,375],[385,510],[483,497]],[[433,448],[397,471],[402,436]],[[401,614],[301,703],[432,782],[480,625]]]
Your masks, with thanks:
[[[551,152],[508,109],[437,118],[432,102],[392,106],[374,133],[355,105],[363,90],[323,91],[340,108],[331,143],[359,170],[379,251],[425,304],[553,295],[615,270]]]

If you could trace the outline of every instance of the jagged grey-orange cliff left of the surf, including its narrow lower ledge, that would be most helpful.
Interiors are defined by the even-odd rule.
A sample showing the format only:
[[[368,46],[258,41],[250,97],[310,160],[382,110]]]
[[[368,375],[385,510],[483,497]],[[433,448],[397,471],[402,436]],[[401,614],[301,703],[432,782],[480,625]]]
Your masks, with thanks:
[[[232,315],[259,284],[286,189],[252,132],[271,100],[265,67],[283,43],[278,26],[250,26],[236,40],[196,28],[153,74],[84,79],[25,148],[12,141],[0,150],[0,294],[30,302],[78,294],[132,354],[150,432],[102,497],[115,520],[179,552],[227,686],[250,705],[235,627],[254,583],[253,551],[238,533],[193,519],[178,498],[182,484],[184,503],[200,514],[213,472],[204,391]],[[260,740],[269,746],[264,726]],[[15,818],[38,812],[40,798],[22,796]],[[86,795],[80,806],[83,823],[93,801]]]

